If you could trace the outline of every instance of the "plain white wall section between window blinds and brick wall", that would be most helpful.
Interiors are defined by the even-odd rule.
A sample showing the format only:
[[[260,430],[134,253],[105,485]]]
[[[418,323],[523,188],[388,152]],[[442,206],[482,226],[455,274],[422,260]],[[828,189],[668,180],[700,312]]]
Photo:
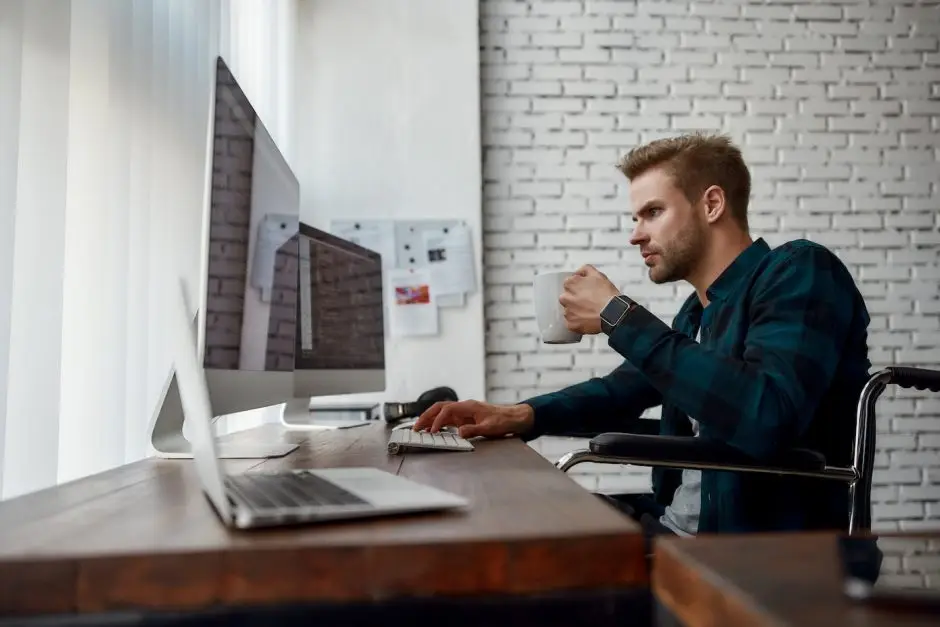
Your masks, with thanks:
[[[455,218],[481,258],[476,0],[304,0],[295,161],[301,219]],[[477,276],[481,279],[479,265]],[[442,309],[437,337],[390,339],[387,391],[484,389],[483,294]],[[330,399],[333,400],[333,399]]]

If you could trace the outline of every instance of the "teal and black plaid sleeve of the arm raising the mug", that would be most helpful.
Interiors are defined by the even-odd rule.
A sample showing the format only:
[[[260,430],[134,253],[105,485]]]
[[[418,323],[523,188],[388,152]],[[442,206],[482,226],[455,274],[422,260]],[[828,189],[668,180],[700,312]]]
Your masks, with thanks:
[[[699,345],[642,307],[608,343],[698,420],[703,436],[766,458],[802,433],[829,387],[854,314],[853,289],[830,253],[800,248],[752,286],[740,358]]]

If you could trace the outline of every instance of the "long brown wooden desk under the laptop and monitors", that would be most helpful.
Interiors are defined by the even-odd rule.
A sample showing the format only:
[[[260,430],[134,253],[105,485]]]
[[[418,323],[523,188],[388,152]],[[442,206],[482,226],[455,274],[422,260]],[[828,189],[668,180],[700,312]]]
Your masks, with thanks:
[[[346,602],[644,586],[638,526],[516,439],[390,456],[384,424],[287,438],[231,471],[374,466],[469,497],[435,513],[226,529],[191,460],[147,459],[0,503],[0,614]]]

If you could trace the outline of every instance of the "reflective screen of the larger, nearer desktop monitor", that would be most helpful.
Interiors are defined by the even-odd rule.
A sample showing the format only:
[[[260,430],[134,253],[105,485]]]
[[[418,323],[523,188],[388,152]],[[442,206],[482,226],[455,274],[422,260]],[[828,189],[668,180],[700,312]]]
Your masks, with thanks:
[[[290,372],[300,188],[221,59],[213,124],[203,365]]]

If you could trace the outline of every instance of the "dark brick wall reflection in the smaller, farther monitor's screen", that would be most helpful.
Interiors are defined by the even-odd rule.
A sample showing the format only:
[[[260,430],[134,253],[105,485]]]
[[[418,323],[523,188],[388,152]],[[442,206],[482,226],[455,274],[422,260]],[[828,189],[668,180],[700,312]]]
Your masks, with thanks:
[[[308,368],[383,368],[381,268],[330,245],[310,245],[313,350]]]

